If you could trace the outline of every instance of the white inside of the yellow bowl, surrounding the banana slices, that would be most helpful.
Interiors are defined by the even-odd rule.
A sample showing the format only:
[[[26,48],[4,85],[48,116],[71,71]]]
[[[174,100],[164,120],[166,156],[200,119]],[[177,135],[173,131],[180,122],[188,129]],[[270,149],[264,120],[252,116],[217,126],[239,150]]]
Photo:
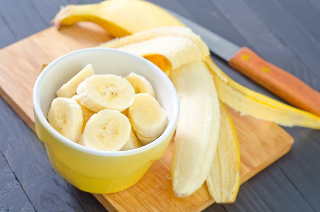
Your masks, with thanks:
[[[33,91],[33,101],[39,121],[45,128],[51,128],[50,131],[53,130],[55,134],[59,134],[46,120],[51,102],[56,98],[56,91],[89,63],[92,64],[96,74],[116,74],[125,77],[134,72],[145,77],[153,86],[156,99],[168,116],[164,134],[172,131],[179,116],[179,99],[170,79],[150,61],[121,50],[108,48],[88,48],[68,53],[50,63],[39,75]],[[163,136],[165,136],[164,134]],[[60,134],[54,136],[63,137]],[[161,137],[157,140],[161,140]],[[63,140],[68,139],[64,138]],[[76,143],[67,144],[73,146]],[[150,144],[155,145],[156,141]],[[80,145],[76,144],[76,146]],[[80,147],[80,150],[83,151],[84,148]],[[94,153],[94,150],[92,151],[90,153]]]

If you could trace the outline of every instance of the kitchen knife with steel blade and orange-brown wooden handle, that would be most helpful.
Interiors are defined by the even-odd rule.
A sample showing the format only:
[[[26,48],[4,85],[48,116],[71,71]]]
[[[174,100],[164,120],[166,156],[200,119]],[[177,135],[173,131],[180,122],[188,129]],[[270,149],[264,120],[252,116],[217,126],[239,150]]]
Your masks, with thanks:
[[[201,36],[210,51],[228,64],[293,106],[320,116],[320,93],[299,78],[263,60],[248,47],[240,47],[201,25],[169,11]]]

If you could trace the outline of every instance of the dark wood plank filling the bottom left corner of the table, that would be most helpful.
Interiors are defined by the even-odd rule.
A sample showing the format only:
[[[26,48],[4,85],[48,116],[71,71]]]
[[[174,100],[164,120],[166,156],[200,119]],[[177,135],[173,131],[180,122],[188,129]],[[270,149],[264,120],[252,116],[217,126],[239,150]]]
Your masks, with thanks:
[[[35,211],[1,152],[0,177],[0,211]]]

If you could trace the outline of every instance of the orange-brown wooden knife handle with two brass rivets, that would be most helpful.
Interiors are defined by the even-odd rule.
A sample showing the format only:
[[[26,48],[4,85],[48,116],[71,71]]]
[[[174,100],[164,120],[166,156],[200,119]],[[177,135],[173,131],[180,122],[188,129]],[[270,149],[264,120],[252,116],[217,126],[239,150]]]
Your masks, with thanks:
[[[320,116],[320,93],[299,78],[242,47],[229,65],[293,106]]]

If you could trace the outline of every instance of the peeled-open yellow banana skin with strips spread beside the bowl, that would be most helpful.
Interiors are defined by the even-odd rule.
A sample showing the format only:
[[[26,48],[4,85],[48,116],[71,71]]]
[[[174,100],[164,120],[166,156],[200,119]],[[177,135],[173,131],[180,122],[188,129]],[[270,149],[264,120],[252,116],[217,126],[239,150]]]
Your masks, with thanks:
[[[172,80],[180,98],[171,169],[173,190],[178,196],[188,196],[206,182],[216,202],[235,201],[240,186],[240,151],[224,104],[242,115],[283,126],[320,129],[320,117],[230,79],[213,63],[207,45],[198,35],[154,4],[108,0],[68,5],[61,8],[53,23],[60,27],[80,20],[96,22],[111,35],[121,37],[100,46],[145,57]],[[134,126],[140,130],[140,140],[144,140],[147,135]]]

